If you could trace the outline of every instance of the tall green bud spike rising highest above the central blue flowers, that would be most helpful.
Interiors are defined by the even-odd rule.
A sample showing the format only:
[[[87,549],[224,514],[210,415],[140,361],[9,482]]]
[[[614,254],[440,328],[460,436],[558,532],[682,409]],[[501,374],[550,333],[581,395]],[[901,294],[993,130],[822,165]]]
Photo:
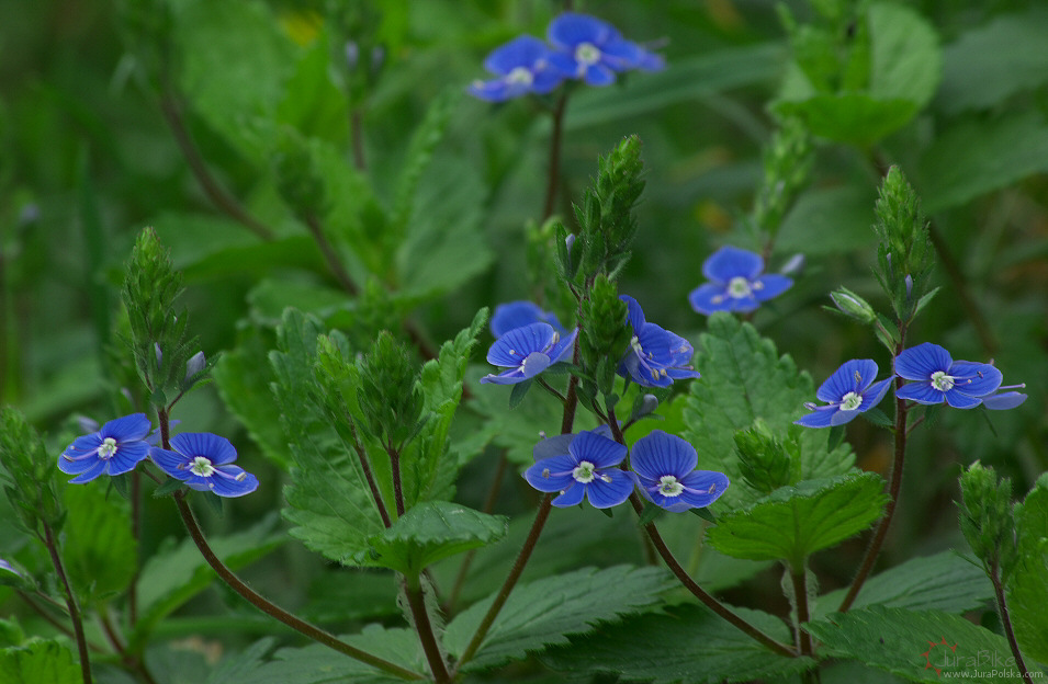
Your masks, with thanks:
[[[586,191],[582,205],[575,206],[579,232],[568,262],[561,271],[575,282],[591,283],[597,274],[618,276],[630,260],[630,247],[636,236],[633,206],[644,190],[641,180],[641,141],[630,136],[598,162],[597,179]],[[560,231],[566,237],[565,231]],[[579,280],[581,278],[581,280]]]

